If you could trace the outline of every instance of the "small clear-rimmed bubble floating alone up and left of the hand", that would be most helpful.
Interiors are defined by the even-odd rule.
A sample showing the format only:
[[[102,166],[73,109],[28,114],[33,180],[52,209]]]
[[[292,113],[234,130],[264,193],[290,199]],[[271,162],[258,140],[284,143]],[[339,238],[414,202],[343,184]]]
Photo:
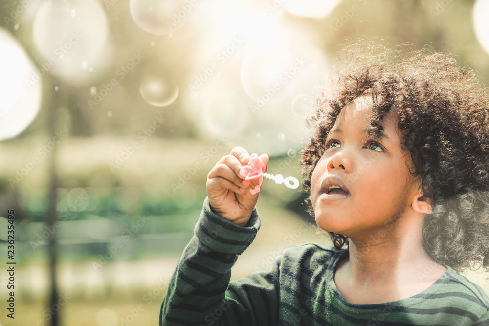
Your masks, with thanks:
[[[143,99],[156,107],[170,105],[178,97],[178,85],[174,79],[147,76],[139,86]]]

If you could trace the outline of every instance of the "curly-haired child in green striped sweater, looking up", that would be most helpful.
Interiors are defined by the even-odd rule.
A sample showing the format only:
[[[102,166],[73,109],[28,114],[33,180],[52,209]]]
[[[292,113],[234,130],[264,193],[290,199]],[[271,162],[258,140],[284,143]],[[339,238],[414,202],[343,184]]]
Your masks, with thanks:
[[[489,270],[488,90],[442,53],[346,53],[301,158],[334,246],[291,246],[229,282],[260,228],[236,147],[208,174],[160,325],[489,325],[488,296],[458,274]]]

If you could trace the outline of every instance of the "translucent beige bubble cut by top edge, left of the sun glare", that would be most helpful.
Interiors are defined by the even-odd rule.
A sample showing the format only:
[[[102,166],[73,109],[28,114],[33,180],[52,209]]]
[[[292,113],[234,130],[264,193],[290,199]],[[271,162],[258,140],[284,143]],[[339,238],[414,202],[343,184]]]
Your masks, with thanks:
[[[193,9],[188,0],[131,0],[129,7],[134,22],[155,35],[176,32]]]

